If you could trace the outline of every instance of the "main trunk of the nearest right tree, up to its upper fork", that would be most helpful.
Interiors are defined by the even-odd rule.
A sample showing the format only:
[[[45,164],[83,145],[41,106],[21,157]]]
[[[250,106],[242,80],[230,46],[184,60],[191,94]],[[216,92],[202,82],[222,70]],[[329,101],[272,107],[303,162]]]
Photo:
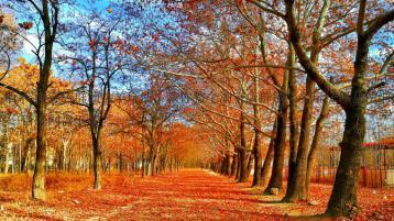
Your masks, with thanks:
[[[370,41],[371,38],[359,35],[350,103],[348,107],[343,107],[346,123],[340,143],[341,156],[326,211],[326,213],[336,217],[351,217],[357,212],[357,187],[365,136],[365,109],[369,91],[364,85],[364,77],[368,69]]]

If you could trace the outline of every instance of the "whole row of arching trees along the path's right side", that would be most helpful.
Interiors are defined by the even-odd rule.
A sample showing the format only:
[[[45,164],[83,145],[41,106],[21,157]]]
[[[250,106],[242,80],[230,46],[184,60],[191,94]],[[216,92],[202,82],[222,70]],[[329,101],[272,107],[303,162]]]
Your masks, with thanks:
[[[308,199],[316,151],[330,113],[343,122],[343,135],[326,213],[353,214],[366,115],[391,115],[392,5],[167,1],[166,10],[176,22],[156,25],[165,38],[161,46],[169,51],[157,56],[173,64],[162,71],[185,78],[186,84],[174,85],[195,103],[187,117],[214,134],[219,161],[214,159],[212,167],[238,181],[245,181],[254,167],[253,186],[267,184],[270,194],[283,190],[288,162],[283,201]]]

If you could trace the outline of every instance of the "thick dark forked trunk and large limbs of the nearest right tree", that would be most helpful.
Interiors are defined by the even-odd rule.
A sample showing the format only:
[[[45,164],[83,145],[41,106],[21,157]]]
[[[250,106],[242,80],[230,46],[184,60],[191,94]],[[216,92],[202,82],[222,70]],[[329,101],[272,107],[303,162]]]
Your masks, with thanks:
[[[343,137],[340,144],[341,156],[326,213],[335,217],[351,217],[357,210],[357,186],[365,135],[368,93],[370,89],[368,89],[365,85],[370,41],[383,25],[393,21],[394,10],[380,14],[371,24],[365,25],[366,1],[360,1],[357,21],[358,45],[354,75],[351,82],[351,95],[348,96],[346,91],[330,84],[308,58],[302,44],[300,31],[295,16],[295,1],[286,0],[285,4],[285,21],[299,63],[320,89],[337,101],[346,112]]]

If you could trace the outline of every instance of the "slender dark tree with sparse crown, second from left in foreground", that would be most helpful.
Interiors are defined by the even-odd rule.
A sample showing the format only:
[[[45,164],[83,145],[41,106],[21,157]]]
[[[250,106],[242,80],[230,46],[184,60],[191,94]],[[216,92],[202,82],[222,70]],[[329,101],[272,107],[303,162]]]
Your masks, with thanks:
[[[88,125],[90,128],[91,144],[94,151],[95,189],[101,188],[101,131],[110,112],[112,103],[113,80],[117,74],[129,67],[125,40],[118,35],[122,18],[113,11],[107,11],[101,15],[91,5],[90,11],[84,15],[77,15],[78,21],[72,21],[67,29],[73,30],[72,36],[65,41],[65,49],[69,53],[59,55],[64,70],[70,76],[77,75],[81,90],[78,91],[72,103],[85,107],[88,112]],[[81,23],[81,21],[84,21]],[[72,54],[72,55],[68,55]]]

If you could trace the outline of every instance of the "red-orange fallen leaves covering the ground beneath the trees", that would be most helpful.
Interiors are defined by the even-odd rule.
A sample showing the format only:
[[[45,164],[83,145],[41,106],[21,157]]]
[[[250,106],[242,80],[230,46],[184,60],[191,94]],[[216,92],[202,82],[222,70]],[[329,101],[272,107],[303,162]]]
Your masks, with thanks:
[[[281,196],[199,169],[145,178],[106,175],[100,191],[89,188],[91,176],[51,174],[48,200],[37,202],[29,199],[30,179],[0,177],[0,220],[305,220],[324,212],[331,190],[313,185],[319,205],[308,206],[275,203]],[[361,188],[359,196],[355,220],[394,220],[393,189]]]

